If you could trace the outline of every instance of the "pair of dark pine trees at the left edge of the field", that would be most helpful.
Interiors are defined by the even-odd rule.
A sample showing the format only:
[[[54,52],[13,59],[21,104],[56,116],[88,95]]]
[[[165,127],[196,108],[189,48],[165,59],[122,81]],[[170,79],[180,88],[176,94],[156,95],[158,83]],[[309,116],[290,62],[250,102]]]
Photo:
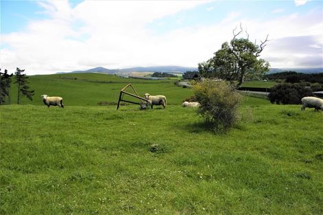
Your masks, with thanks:
[[[4,72],[1,72],[0,69],[0,105],[1,104],[11,104],[11,83],[12,76],[14,76],[14,84],[18,87],[17,100],[16,104],[20,104],[21,96],[27,97],[29,100],[32,100],[32,96],[34,96],[34,90],[30,89],[28,86],[29,82],[27,79],[29,78],[23,73],[25,69],[16,68],[16,71],[13,73],[8,73],[8,70],[5,69]]]

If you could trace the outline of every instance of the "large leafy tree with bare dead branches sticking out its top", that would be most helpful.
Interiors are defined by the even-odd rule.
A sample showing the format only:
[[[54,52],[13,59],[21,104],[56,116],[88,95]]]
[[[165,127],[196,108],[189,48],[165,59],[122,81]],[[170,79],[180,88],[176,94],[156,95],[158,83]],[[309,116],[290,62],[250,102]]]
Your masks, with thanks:
[[[260,41],[256,45],[247,38],[236,38],[243,32],[242,27],[238,33],[233,30],[234,37],[230,43],[223,43],[221,49],[214,53],[214,56],[206,62],[199,63],[199,72],[205,78],[221,78],[228,80],[236,88],[241,87],[245,79],[254,79],[263,76],[269,71],[269,63],[260,57],[268,41]]]

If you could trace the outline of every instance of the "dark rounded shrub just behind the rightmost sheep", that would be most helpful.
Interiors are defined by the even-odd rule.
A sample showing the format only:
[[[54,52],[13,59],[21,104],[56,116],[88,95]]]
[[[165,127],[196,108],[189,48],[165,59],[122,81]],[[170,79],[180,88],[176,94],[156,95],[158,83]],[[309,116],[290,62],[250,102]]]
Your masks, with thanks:
[[[271,87],[271,92],[268,94],[270,102],[276,102],[276,104],[301,104],[305,96],[313,96],[309,87],[290,83],[277,84]]]

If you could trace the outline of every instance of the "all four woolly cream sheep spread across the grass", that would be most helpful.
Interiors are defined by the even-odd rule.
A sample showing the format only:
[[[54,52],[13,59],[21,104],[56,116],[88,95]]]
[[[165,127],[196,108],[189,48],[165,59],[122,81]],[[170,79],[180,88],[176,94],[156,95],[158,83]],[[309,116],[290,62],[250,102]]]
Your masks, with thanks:
[[[41,95],[43,98],[43,102],[45,105],[48,106],[59,106],[64,108],[63,98],[54,96],[49,97],[48,95]],[[151,109],[153,109],[154,105],[162,105],[164,109],[166,108],[166,96],[165,95],[150,95],[149,93],[145,94],[146,100],[148,100],[148,104],[151,105]],[[199,102],[183,102],[183,107],[198,107],[200,104]],[[315,111],[323,111],[323,100],[320,98],[316,98],[313,96],[308,96],[302,98],[302,111],[306,108],[314,108]]]

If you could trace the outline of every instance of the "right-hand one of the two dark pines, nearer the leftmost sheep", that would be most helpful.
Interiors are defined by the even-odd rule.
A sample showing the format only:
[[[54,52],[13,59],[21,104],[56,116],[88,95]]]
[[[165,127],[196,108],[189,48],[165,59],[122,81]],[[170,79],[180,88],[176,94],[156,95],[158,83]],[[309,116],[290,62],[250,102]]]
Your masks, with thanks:
[[[16,81],[14,82],[15,84],[18,85],[18,95],[17,95],[17,101],[16,103],[20,103],[20,95],[25,95],[29,100],[32,100],[32,96],[34,95],[34,91],[30,90],[30,87],[27,85],[27,76],[23,72],[25,69],[19,69],[18,67],[16,68],[15,77]]]

